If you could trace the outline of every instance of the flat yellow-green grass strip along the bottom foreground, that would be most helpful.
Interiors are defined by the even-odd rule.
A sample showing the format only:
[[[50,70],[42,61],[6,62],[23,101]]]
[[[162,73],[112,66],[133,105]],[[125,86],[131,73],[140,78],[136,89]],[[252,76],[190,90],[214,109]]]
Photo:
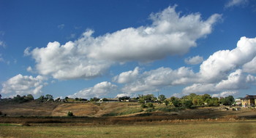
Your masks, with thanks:
[[[8,126],[0,137],[256,137],[256,121],[106,126]]]

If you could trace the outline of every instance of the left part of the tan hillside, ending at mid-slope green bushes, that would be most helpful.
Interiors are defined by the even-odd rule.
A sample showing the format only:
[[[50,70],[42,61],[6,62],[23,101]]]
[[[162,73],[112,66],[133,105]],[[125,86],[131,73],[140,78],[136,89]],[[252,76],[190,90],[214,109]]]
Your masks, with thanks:
[[[133,105],[131,105],[133,104]],[[26,102],[22,104],[1,103],[1,113],[10,116],[66,116],[72,111],[76,116],[108,116],[127,115],[142,111],[138,103],[58,103],[58,102]]]

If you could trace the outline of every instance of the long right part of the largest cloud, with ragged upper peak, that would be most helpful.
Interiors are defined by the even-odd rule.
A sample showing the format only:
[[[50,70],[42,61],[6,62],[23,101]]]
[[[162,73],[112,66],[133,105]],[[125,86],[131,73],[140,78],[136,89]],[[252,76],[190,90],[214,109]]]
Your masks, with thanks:
[[[151,14],[150,26],[126,28],[105,36],[92,38],[93,47],[89,57],[115,61],[151,61],[167,55],[184,54],[196,46],[197,38],[212,31],[212,25],[220,15],[211,15],[202,20],[200,14],[182,16],[175,7]]]

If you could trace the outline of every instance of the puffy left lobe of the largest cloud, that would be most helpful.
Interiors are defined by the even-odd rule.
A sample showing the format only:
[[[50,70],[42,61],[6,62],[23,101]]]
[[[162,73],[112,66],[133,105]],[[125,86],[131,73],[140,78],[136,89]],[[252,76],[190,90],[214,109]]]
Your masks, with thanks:
[[[31,51],[31,55],[40,74],[59,79],[94,78],[109,67],[109,62],[86,57],[83,49],[72,41],[62,46],[59,42],[49,43]]]

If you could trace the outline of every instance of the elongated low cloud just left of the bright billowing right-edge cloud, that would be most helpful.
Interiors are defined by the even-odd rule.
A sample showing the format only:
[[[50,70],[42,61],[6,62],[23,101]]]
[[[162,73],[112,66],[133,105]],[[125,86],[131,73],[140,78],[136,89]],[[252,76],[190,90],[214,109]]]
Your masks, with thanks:
[[[130,78],[130,76],[126,77]],[[156,92],[164,86],[187,84],[194,77],[195,73],[190,68],[181,67],[177,70],[157,68],[139,74],[136,79],[126,84],[122,91],[125,93]]]

